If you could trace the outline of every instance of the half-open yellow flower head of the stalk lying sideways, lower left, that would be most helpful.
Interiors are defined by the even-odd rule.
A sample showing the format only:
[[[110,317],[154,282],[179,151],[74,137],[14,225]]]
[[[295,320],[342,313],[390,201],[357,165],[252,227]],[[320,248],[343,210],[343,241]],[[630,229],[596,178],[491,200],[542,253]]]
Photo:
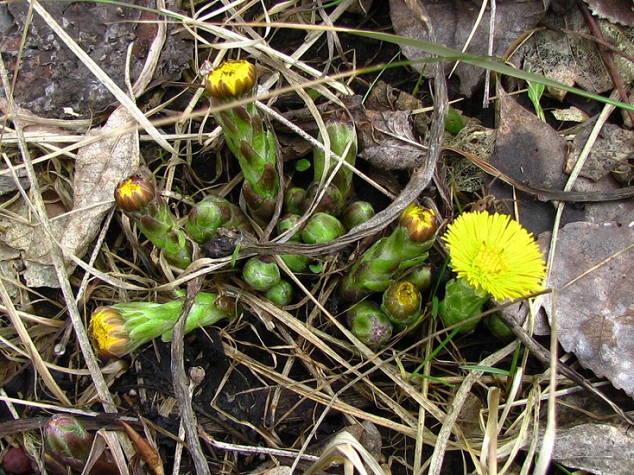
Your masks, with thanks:
[[[125,319],[112,307],[99,307],[90,317],[88,334],[101,355],[122,356],[130,353],[130,335],[124,329]]]

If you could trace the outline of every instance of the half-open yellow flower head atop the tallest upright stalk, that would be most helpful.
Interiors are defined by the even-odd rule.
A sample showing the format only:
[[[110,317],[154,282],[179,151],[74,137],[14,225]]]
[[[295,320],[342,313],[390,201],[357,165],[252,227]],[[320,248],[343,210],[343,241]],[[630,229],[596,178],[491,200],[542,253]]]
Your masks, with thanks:
[[[255,66],[249,61],[225,61],[207,76],[205,90],[216,99],[235,99],[256,82]]]

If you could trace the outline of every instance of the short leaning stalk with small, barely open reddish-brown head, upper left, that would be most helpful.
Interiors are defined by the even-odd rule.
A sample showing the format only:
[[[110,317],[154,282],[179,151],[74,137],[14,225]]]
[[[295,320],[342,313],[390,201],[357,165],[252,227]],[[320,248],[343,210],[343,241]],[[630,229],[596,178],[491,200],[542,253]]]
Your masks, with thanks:
[[[180,269],[192,263],[192,251],[185,232],[170,212],[167,203],[156,193],[154,184],[143,177],[130,177],[115,189],[120,209],[137,224],[139,231],[157,248],[163,249],[166,260]]]

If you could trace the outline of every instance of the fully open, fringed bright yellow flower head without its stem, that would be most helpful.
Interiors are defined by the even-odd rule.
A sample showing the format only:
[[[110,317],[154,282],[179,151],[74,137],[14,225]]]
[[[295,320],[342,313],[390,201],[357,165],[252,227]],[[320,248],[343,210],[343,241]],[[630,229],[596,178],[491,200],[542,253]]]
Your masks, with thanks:
[[[495,300],[542,289],[546,272],[542,253],[533,234],[507,215],[463,213],[449,224],[442,240],[458,277]]]

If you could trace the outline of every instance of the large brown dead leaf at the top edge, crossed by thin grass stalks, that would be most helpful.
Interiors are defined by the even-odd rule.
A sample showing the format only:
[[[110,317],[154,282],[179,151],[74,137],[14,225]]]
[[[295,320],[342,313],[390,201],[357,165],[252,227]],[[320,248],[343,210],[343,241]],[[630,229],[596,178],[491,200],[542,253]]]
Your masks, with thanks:
[[[418,1],[427,11],[433,25],[437,43],[461,51],[466,44],[471,28],[478,21],[478,13],[482,2],[460,0],[422,0]],[[493,34],[493,55],[504,56],[506,49],[524,32],[532,30],[542,20],[550,4],[549,0],[525,0],[497,2],[495,15],[495,32]],[[394,31],[404,37],[429,41],[427,31],[421,22],[412,15],[404,0],[390,0],[390,15]],[[475,31],[466,53],[480,56],[489,54],[489,22],[490,10],[487,8],[483,19]],[[427,53],[410,46],[402,46],[403,54],[409,60],[429,58]],[[423,65],[414,65],[422,68]],[[453,67],[447,65],[447,72]],[[428,68],[426,75],[433,75],[433,68]],[[471,96],[478,84],[483,80],[482,68],[461,63],[456,68],[460,78],[460,89],[466,96]]]

